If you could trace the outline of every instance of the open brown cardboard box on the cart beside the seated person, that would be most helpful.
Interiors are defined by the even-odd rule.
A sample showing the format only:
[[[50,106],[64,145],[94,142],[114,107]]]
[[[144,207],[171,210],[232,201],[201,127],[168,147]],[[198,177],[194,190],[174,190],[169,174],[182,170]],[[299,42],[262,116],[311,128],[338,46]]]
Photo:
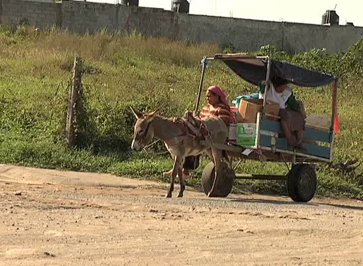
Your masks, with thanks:
[[[266,105],[266,112],[278,115],[279,113],[279,105],[272,101],[268,101]],[[256,123],[257,113],[262,112],[263,110],[263,99],[244,99],[239,102],[238,112],[243,118],[243,122],[245,123]],[[277,118],[267,116],[268,119],[277,120]]]

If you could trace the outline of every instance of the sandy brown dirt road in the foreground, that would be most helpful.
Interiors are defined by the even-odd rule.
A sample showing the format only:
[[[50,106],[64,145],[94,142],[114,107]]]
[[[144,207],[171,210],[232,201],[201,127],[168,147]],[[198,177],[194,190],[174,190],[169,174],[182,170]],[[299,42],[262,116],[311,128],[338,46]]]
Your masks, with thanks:
[[[0,265],[363,265],[362,202],[164,194],[154,182],[0,165]]]

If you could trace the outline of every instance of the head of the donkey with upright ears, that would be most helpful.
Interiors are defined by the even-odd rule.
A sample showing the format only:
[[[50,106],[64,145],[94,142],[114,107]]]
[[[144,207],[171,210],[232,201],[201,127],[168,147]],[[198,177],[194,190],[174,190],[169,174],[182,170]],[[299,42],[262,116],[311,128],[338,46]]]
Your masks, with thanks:
[[[153,121],[157,110],[152,113],[143,114],[132,106],[130,106],[130,108],[137,118],[131,149],[138,151],[148,145],[152,138],[154,138],[154,128],[151,125],[151,122]]]

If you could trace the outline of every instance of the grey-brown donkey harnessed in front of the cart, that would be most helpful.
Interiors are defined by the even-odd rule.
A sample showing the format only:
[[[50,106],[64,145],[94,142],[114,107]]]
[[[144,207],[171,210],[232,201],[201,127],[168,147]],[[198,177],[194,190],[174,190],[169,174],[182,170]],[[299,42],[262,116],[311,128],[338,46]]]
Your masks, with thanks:
[[[191,136],[186,132],[183,123],[180,123],[173,118],[165,118],[157,115],[157,110],[152,113],[143,114],[132,106],[130,106],[130,108],[137,118],[131,149],[141,150],[155,137],[164,142],[166,149],[169,151],[174,161],[170,186],[165,196],[171,197],[171,193],[174,190],[174,180],[176,175],[178,175],[180,191],[177,196],[183,197],[185,182],[182,170],[185,157],[196,156],[203,152],[207,153],[214,161],[215,165],[215,177],[208,196],[217,195],[216,184],[218,184],[219,176],[217,173],[220,168],[222,151],[214,147],[214,144],[224,144],[226,141],[228,128],[223,120],[217,116],[203,120],[203,123],[210,133],[210,141],[201,142],[196,140],[195,136]]]

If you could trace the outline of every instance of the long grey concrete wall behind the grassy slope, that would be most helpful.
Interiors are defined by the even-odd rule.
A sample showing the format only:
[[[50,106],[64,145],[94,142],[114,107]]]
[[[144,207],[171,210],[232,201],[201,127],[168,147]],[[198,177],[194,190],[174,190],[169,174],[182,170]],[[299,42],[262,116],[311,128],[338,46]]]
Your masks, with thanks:
[[[326,48],[345,51],[363,37],[363,27],[322,26],[178,14],[162,9],[63,1],[39,3],[29,0],[0,0],[0,23],[46,28],[52,25],[78,33],[103,28],[112,32],[165,36],[174,40],[233,44],[255,51],[272,44],[291,52]]]

